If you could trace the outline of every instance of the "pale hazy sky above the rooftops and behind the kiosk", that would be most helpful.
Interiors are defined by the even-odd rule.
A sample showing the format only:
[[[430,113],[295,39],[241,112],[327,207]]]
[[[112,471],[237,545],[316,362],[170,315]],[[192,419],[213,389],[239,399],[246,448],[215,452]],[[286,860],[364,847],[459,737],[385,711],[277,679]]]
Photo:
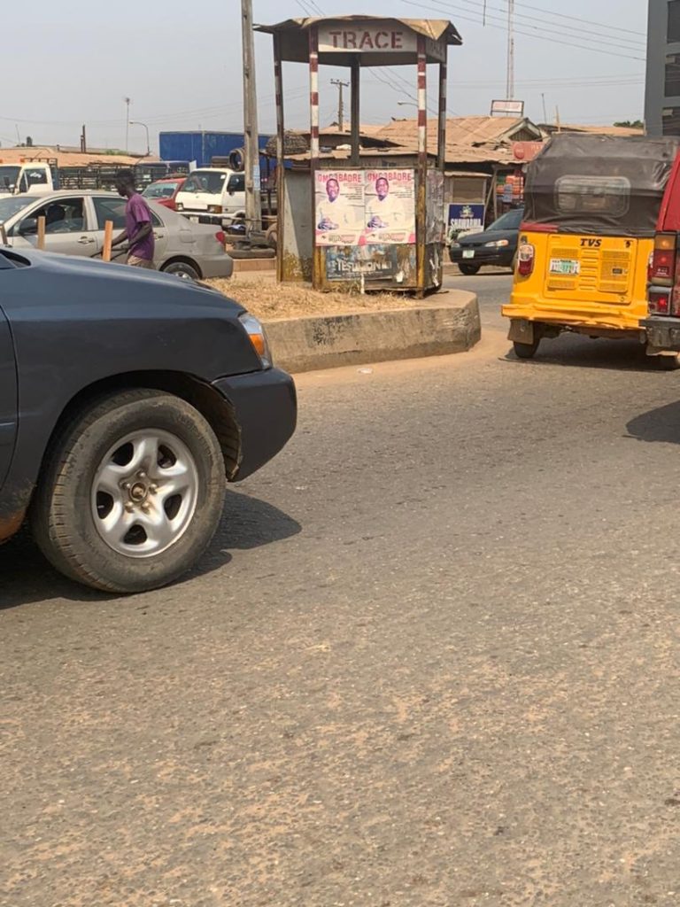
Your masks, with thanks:
[[[326,15],[371,13],[404,18],[448,18],[463,37],[450,51],[449,108],[455,114],[486,113],[503,97],[506,78],[507,0],[253,0],[255,20],[279,22],[315,7]],[[645,0],[515,0],[515,96],[526,112],[549,120],[559,106],[563,122],[609,123],[642,117],[645,71]],[[151,146],[158,132],[173,129],[242,128],[242,56],[239,0],[202,0],[187,13],[177,0],[141,4],[118,0],[34,0],[30,52],[20,4],[3,10],[3,69],[8,86],[0,100],[0,141],[31,135],[36,143],[77,144],[87,123],[92,145],[122,147],[125,104],[131,119],[147,122]],[[9,37],[9,36],[15,36]],[[271,39],[256,37],[260,131],[275,125]],[[322,122],[335,117],[336,90],[320,74]],[[287,125],[307,122],[307,75],[286,67]],[[406,80],[404,83],[402,80]],[[366,72],[362,120],[387,122],[413,115],[408,104],[415,82],[411,68]],[[144,132],[130,128],[130,147],[144,151]],[[1,156],[1,152],[0,152]]]

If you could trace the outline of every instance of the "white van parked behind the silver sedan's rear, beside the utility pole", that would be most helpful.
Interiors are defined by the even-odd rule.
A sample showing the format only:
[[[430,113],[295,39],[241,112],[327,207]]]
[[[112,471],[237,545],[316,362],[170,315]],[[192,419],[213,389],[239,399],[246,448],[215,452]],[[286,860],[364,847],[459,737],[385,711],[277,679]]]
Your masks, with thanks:
[[[189,173],[175,199],[177,210],[197,223],[229,227],[246,216],[246,177],[228,167]]]

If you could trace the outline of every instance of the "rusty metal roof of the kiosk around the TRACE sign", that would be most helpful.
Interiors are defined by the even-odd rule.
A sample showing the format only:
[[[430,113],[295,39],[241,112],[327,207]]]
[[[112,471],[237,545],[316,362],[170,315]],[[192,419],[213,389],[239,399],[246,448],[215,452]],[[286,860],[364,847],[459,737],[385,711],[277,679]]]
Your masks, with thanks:
[[[327,28],[333,24],[342,26],[376,22],[384,27],[396,24],[408,29],[413,34],[423,34],[434,44],[462,44],[458,29],[448,19],[397,19],[379,15],[334,15],[324,17],[307,17],[302,19],[287,19],[275,25],[256,25],[256,32],[277,35],[281,47],[281,59],[287,63],[306,63],[309,59],[309,34],[308,30],[316,25]],[[335,66],[349,66],[358,57],[362,66],[393,66],[414,64],[417,62],[416,54],[409,51],[362,51],[359,52],[333,52],[319,53],[319,63],[329,63]],[[439,63],[436,55],[427,54],[428,63]]]

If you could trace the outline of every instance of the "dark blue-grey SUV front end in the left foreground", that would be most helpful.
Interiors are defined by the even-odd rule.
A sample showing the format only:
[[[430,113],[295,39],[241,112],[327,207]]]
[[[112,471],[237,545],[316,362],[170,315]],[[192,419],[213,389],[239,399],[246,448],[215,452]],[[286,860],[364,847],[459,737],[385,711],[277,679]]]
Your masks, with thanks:
[[[0,541],[149,590],[199,559],[225,482],[295,430],[257,318],[201,284],[0,247]]]

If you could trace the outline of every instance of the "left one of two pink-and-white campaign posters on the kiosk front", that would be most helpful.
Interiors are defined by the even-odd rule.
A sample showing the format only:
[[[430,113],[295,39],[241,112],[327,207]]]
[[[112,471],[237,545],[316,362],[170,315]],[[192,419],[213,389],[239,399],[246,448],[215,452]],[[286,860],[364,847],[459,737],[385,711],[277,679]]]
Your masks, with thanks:
[[[317,246],[357,246],[364,231],[364,171],[316,171]]]

